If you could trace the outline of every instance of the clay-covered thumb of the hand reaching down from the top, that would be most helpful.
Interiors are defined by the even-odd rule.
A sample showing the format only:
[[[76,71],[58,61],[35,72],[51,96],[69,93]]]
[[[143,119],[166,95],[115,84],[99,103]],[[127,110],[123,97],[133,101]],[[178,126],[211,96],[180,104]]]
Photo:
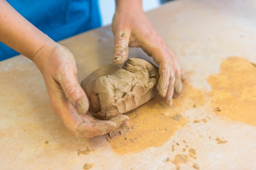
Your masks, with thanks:
[[[121,65],[128,58],[128,44],[130,38],[130,31],[117,31],[115,33],[115,49],[113,64]]]

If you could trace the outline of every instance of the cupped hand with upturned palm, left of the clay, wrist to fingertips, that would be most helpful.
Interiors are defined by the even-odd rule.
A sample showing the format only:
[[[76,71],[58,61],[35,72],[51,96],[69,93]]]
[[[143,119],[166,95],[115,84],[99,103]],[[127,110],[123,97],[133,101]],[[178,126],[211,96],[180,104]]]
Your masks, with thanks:
[[[33,61],[43,74],[54,112],[74,136],[91,138],[127,124],[126,115],[102,121],[86,114],[88,98],[76,78],[74,56],[67,48],[58,44],[43,46]]]

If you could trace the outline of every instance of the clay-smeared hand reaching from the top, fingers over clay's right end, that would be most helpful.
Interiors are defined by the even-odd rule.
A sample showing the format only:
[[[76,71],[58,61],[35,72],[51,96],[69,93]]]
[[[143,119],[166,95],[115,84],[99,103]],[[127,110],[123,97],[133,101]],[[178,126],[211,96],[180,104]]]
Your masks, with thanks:
[[[121,65],[128,57],[128,47],[141,47],[159,65],[158,91],[172,104],[173,96],[182,90],[181,71],[175,55],[146,17],[141,0],[116,0],[112,21],[115,49],[112,62]]]

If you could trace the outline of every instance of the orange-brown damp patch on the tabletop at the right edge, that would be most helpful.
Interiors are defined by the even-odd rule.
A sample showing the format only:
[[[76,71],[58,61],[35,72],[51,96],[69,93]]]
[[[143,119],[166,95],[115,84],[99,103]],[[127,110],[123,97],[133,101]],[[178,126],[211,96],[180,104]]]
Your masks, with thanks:
[[[256,67],[242,57],[222,62],[220,73],[207,78],[217,115],[256,126]]]

